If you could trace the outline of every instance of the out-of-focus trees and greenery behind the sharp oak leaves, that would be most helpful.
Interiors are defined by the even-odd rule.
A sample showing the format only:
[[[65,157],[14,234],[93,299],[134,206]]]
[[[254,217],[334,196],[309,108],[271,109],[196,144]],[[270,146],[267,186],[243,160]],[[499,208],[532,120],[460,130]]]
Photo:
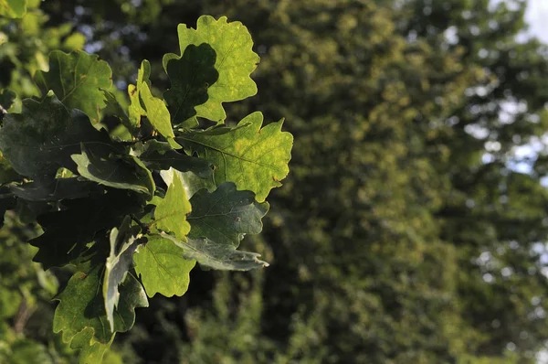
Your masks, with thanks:
[[[524,1],[30,0],[0,19],[0,89],[35,94],[51,49],[111,63],[121,90],[198,16],[246,25],[261,110],[295,135],[264,233],[268,269],[191,273],[105,363],[535,363],[548,343],[548,48]],[[38,7],[39,6],[39,7]],[[1,95],[0,95],[1,97]],[[16,108],[17,106],[15,106]],[[533,154],[523,154],[532,150]],[[5,217],[0,362],[71,363],[51,333],[62,272]]]

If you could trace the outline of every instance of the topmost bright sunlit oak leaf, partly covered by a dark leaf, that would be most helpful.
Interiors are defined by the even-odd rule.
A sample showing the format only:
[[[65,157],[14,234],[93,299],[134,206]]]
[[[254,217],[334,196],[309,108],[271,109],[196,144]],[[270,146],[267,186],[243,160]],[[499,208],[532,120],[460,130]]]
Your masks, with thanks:
[[[223,123],[227,113],[222,102],[236,102],[257,93],[257,85],[249,75],[257,68],[259,57],[253,52],[253,41],[248,28],[240,22],[227,22],[226,16],[216,20],[213,16],[200,16],[196,29],[184,24],[177,27],[181,55],[189,45],[208,44],[216,52],[215,68],[218,80],[207,89],[207,102],[195,107],[197,115],[214,122]],[[166,54],[163,68],[180,56]]]

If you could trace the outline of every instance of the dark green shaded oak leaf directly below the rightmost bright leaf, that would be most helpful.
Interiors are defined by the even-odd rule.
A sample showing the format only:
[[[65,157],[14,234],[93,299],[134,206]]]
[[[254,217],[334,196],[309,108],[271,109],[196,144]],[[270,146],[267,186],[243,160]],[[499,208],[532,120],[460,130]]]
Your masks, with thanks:
[[[201,189],[190,199],[193,210],[186,218],[190,222],[188,238],[208,238],[217,244],[237,247],[246,234],[262,230],[261,219],[269,203],[259,204],[251,191],[237,191],[231,182],[220,185],[215,192]]]

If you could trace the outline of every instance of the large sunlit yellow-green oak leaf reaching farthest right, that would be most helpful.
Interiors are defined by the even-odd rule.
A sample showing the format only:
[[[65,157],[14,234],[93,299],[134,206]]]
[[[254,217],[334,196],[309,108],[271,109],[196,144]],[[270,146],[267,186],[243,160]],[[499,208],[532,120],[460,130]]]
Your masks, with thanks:
[[[253,112],[236,128],[185,131],[175,140],[215,165],[216,186],[232,181],[238,189],[255,192],[258,202],[263,202],[290,171],[293,136],[281,131],[283,120],[261,129],[262,122],[262,113]]]

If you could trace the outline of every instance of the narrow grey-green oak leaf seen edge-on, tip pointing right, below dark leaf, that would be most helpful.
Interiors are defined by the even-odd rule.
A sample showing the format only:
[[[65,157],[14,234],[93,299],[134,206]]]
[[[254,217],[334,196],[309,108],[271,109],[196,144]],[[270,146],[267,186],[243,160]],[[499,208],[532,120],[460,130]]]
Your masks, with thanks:
[[[221,271],[249,271],[269,266],[268,262],[258,259],[260,257],[258,253],[237,251],[232,244],[219,244],[207,238],[177,241],[173,236],[163,232],[160,233],[160,236],[174,241],[183,249],[185,259],[195,260],[204,268]]]

